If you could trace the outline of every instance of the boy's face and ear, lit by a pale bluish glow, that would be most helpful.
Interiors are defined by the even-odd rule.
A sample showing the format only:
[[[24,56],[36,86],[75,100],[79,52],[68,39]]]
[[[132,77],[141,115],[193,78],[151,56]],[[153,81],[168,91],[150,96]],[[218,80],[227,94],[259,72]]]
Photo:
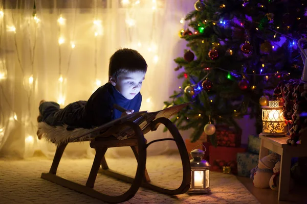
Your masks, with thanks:
[[[110,78],[110,82],[125,98],[131,100],[140,92],[145,74],[143,71],[124,72],[117,79]]]

